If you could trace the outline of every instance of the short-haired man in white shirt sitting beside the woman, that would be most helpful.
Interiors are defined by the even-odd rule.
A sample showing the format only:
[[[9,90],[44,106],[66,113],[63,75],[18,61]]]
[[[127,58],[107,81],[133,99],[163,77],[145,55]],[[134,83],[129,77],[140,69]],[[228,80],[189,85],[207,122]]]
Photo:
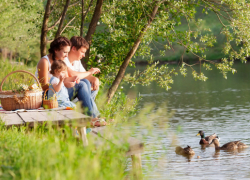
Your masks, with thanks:
[[[68,54],[68,58],[65,59],[65,63],[68,66],[69,76],[78,76],[81,80],[87,79],[91,84],[91,95],[95,99],[98,90],[99,90],[99,79],[93,76],[89,71],[100,72],[98,68],[91,68],[89,71],[86,71],[82,66],[80,59],[85,57],[85,53],[89,48],[88,42],[80,36],[73,36],[70,39],[71,49]]]

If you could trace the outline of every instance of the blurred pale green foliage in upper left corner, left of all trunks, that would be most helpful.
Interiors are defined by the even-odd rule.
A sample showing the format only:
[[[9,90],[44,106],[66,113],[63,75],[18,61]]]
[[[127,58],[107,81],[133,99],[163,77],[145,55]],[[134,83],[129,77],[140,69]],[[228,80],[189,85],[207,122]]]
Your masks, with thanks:
[[[43,6],[37,0],[0,2],[0,48],[8,48],[26,62],[39,54],[39,34]]]

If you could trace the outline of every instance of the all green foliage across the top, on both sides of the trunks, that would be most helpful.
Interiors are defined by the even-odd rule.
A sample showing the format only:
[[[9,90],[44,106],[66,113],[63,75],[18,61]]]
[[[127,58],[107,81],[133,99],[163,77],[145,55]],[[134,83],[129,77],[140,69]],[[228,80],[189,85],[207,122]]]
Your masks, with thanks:
[[[3,33],[0,36],[1,42],[7,42],[6,46],[15,47],[11,44],[8,45],[8,43],[13,43],[13,40],[16,40],[17,37],[21,37],[20,34],[23,34],[22,38],[19,38],[20,42],[29,38],[34,40],[38,37],[42,21],[41,8],[46,4],[46,1],[11,2],[13,6],[9,6],[7,1],[2,2],[0,6],[3,12],[3,23],[0,25]],[[101,69],[102,74],[99,77],[103,82],[111,84],[115,79],[125,57],[147,24],[156,2],[152,0],[104,1],[101,19],[93,35],[90,61],[88,62],[90,66],[98,66]],[[60,19],[64,4],[65,1],[62,0],[52,1],[49,27]],[[94,14],[95,4],[96,1],[92,0],[84,2],[84,13],[86,13],[84,33],[89,28],[88,25]],[[88,7],[90,7],[89,11],[87,11]],[[19,13],[13,13],[16,12],[13,11],[13,8]],[[72,35],[80,34],[81,13],[81,2],[71,1],[64,22],[63,36],[70,38]],[[17,16],[21,19],[21,24],[17,21]],[[215,28],[213,22],[206,23],[204,21],[206,17],[213,17],[213,22],[216,21],[216,24],[219,24],[216,31],[213,30]],[[23,26],[22,23],[25,25]],[[235,60],[246,62],[245,57],[249,56],[250,34],[248,33],[248,26],[248,0],[160,1],[156,18],[144,33],[140,46],[129,63],[130,66],[135,66],[135,59],[143,58],[148,61],[149,66],[144,72],[126,75],[124,80],[132,85],[140,83],[148,85],[152,81],[157,81],[160,86],[168,90],[173,83],[173,75],[181,74],[185,76],[186,68],[191,68],[195,79],[206,81],[207,77],[201,70],[198,72],[192,68],[196,64],[199,64],[200,67],[203,64],[208,70],[217,68],[226,78],[228,72],[236,72],[232,67]],[[19,27],[22,28],[17,29]],[[54,38],[58,23],[54,27],[48,33],[48,40]],[[12,28],[12,30],[10,31],[8,28]],[[14,39],[11,40],[11,38]],[[214,62],[207,57],[211,57],[208,54],[211,54],[211,49],[217,46],[218,42],[223,44],[224,55],[221,56],[221,62]],[[158,44],[157,47],[161,48],[157,50],[155,44]],[[182,53],[181,66],[171,70],[165,65],[157,67],[153,62],[158,56],[156,54],[166,57],[170,51],[174,51],[177,44],[178,47],[182,47],[183,51],[176,51],[176,53]],[[26,48],[25,52],[27,50],[29,48]],[[198,62],[195,64],[185,62],[183,59],[185,55],[196,57]]]

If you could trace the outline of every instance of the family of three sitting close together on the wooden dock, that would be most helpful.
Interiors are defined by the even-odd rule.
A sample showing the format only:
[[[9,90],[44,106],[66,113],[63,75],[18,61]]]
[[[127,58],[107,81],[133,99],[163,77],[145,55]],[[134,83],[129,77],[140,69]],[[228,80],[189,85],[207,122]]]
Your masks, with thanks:
[[[98,118],[100,112],[94,99],[99,89],[99,79],[93,76],[100,70],[91,68],[86,71],[80,61],[88,48],[88,42],[82,37],[73,36],[70,40],[56,38],[50,44],[49,54],[38,62],[36,76],[43,91],[48,88],[55,90],[59,106],[75,107],[70,100],[77,97],[86,113],[92,117],[92,125],[101,126],[106,122]],[[48,97],[53,96],[50,89]]]

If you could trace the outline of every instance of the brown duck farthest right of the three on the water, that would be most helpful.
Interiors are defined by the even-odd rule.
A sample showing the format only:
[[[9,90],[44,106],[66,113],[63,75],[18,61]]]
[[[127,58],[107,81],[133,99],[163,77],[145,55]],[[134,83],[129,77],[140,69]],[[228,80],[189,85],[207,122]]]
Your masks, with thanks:
[[[243,149],[247,148],[248,146],[244,144],[243,142],[239,141],[232,141],[224,144],[223,146],[220,147],[220,142],[218,138],[215,138],[212,140],[211,144],[214,144],[215,150],[235,150],[235,149]]]

